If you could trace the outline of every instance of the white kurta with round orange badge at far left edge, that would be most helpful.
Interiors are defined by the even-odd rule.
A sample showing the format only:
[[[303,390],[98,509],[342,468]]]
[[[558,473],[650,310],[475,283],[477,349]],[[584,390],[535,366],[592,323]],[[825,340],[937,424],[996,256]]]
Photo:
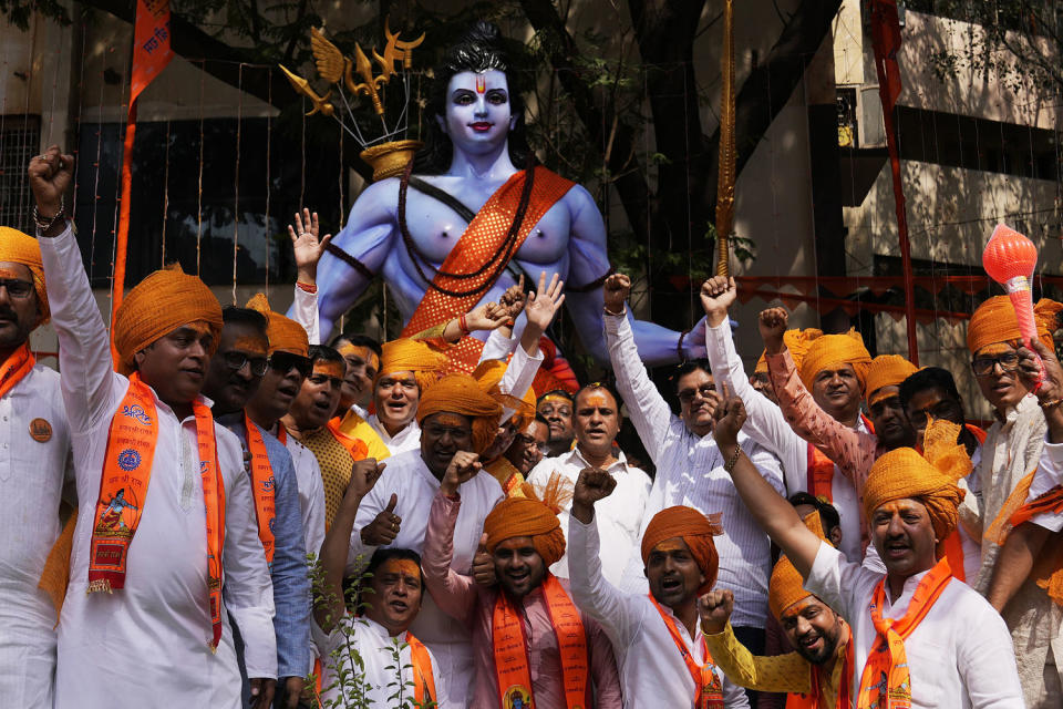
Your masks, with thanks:
[[[30,435],[38,420],[47,440]],[[59,373],[38,364],[0,398],[0,703],[12,709],[52,706],[55,607],[37,584],[71,465]]]

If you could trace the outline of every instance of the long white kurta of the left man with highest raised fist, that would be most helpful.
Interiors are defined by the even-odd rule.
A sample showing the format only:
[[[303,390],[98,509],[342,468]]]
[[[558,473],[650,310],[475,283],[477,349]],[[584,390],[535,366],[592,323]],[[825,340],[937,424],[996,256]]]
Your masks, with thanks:
[[[208,647],[206,511],[195,419],[155,399],[158,441],[125,587],[86,595],[90,541],[111,419],[128,380],[111,370],[107,335],[68,229],[41,239],[62,390],[82,501],[59,627],[55,706],[141,709],[240,706],[229,616],[246,643],[249,677],[276,677],[272,586],[238,439],[215,424],[225,484],[223,636]],[[209,403],[209,402],[208,402]]]

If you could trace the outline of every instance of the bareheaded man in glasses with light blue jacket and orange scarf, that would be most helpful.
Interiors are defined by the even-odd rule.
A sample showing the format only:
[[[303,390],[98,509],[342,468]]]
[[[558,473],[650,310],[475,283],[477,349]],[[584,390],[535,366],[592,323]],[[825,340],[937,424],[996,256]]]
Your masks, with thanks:
[[[221,317],[221,336],[210,358],[203,392],[214,400],[217,422],[237,435],[245,456],[249,458],[247,472],[258,537],[274,586],[280,699],[277,706],[295,709],[302,693],[303,677],[313,664],[307,604],[310,579],[296,472],[285,445],[244,411],[269,367],[266,316],[249,308],[228,307],[223,309]],[[237,643],[237,655],[242,660],[242,643]],[[242,670],[240,674],[246,675]],[[245,705],[249,690],[250,687],[245,686]]]

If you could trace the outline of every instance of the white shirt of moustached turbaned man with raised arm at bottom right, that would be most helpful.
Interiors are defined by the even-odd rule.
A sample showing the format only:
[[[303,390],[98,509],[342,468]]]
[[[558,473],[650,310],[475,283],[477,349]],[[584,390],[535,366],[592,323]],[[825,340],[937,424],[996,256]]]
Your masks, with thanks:
[[[927,572],[908,577],[896,602],[889,594],[883,617],[899,619],[908,610]],[[854,706],[860,675],[877,631],[869,610],[875,587],[883,579],[840,552],[822,543],[805,588],[842,614],[853,628]],[[970,586],[950,579],[922,621],[905,640],[911,676],[911,706],[927,709],[1022,709],[1022,688],[1015,669],[1011,636],[1003,619]]]

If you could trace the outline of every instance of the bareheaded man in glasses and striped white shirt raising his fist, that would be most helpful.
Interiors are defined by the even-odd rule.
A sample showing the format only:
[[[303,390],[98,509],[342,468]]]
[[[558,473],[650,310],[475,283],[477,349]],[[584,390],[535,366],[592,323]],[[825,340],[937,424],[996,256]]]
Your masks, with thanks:
[[[628,414],[657,465],[657,479],[643,512],[644,524],[665,507],[687,505],[702,514],[722,512],[724,534],[715,538],[720,553],[721,587],[735,589],[732,626],[749,648],[762,651],[767,617],[767,579],[772,569],[771,543],[761,531],[724,471],[726,460],[712,438],[713,412],[720,403],[706,360],[681,364],[674,378],[680,415],[674,415],[650,381],[639,358],[625,301],[630,279],[617,274],[605,284],[606,342],[617,377],[617,389]],[[740,434],[744,436],[744,434]],[[741,438],[742,449],[771,485],[783,494],[778,461],[753,441]],[[747,448],[749,446],[749,448]],[[639,538],[644,528],[640,530]],[[647,593],[641,554],[633,554],[625,571],[622,590]]]

